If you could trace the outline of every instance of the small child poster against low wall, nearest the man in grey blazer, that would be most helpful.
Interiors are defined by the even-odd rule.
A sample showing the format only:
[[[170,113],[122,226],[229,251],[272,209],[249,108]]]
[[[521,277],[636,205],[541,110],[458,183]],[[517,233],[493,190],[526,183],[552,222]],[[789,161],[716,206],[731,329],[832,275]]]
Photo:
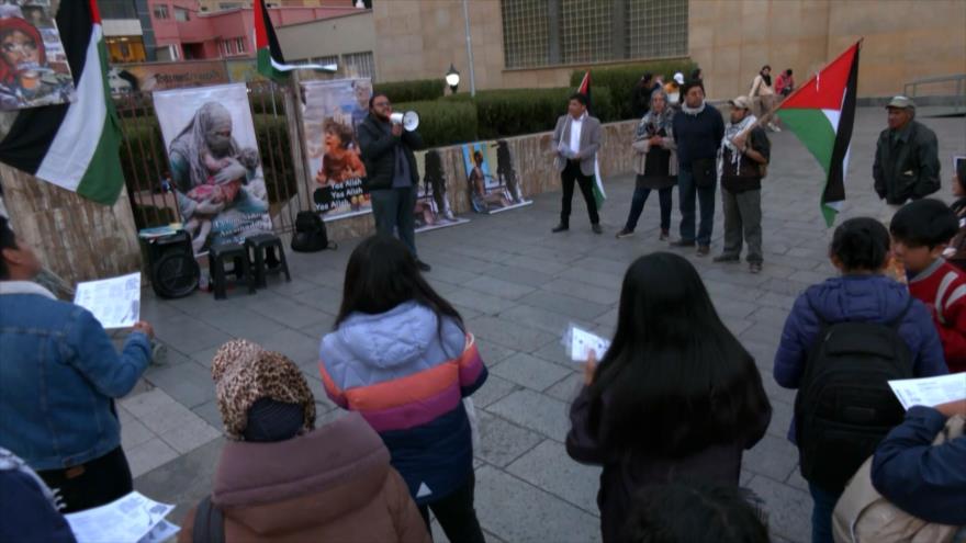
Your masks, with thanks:
[[[523,180],[505,139],[465,144],[462,148],[467,190],[474,212],[499,213],[533,203],[524,200]]]

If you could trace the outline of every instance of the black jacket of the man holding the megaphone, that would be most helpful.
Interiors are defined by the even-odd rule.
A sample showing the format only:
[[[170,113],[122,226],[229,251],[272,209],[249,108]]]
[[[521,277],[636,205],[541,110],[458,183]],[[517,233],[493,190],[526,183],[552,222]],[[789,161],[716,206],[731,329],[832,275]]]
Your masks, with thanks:
[[[423,136],[418,132],[403,131],[402,136],[393,136],[385,131],[382,121],[370,114],[359,125],[357,137],[362,150],[362,163],[366,166],[366,179],[362,180],[362,184],[367,191],[392,189],[397,145],[403,146],[403,152],[409,161],[413,186],[419,183],[416,156],[413,154],[414,150],[423,148]]]

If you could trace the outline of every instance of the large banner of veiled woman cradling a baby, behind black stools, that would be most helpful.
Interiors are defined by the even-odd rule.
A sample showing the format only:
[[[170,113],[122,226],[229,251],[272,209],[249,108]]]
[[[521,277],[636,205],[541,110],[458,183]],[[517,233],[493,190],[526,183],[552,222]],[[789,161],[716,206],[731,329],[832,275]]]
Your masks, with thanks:
[[[158,91],[170,177],[195,254],[271,233],[268,193],[244,83]]]

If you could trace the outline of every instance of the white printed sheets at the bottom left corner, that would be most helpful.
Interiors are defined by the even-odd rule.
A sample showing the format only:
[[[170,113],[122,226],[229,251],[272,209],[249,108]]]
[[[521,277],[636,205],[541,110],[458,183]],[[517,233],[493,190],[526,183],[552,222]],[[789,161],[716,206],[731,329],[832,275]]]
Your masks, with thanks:
[[[166,522],[165,517],[172,509],[175,506],[160,504],[133,491],[106,506],[65,514],[64,518],[70,524],[78,543],[137,543],[151,533],[155,527]]]

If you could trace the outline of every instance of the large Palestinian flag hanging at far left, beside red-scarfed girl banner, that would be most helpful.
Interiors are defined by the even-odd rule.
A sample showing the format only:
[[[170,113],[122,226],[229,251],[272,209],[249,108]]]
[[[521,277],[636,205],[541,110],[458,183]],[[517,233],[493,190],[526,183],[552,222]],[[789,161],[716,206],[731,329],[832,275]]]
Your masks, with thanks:
[[[121,125],[108,87],[108,53],[94,0],[60,2],[57,27],[76,98],[21,110],[0,142],[0,161],[113,205],[124,186]]]

